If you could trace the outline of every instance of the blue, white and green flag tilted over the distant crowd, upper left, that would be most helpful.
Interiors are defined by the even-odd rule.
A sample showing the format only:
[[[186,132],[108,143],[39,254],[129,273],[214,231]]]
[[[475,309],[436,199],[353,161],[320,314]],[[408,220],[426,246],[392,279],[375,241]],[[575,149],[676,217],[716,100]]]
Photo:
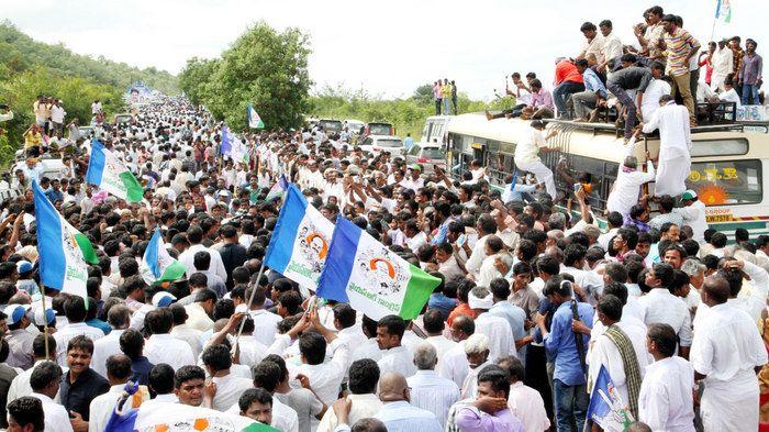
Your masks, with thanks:
[[[144,188],[129,168],[99,140],[91,140],[86,181],[127,202],[142,202]]]

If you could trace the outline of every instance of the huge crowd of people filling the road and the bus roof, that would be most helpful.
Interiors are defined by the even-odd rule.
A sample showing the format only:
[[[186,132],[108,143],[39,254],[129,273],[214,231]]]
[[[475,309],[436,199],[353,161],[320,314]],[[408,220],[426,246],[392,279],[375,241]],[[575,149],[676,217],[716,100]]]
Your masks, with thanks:
[[[644,171],[624,159],[605,229],[584,186],[572,192],[580,218],[556,207],[564,197],[538,158],[555,132],[537,120],[515,153],[537,180],[500,191],[479,162],[461,179],[426,174],[311,126],[247,133],[249,157],[232,160],[221,154],[222,123],[185,99],[157,97],[131,122],[93,122],[96,139],[143,186],[143,201],[127,203],[85,182],[88,136],[76,128],[62,139],[64,122],[41,118],[38,145],[0,185],[18,191],[0,203],[0,427],[103,431],[126,385],[137,384],[140,412],[183,405],[283,432],[582,431],[598,428],[588,407],[605,370],[628,431],[757,430],[769,421],[759,410],[769,394],[769,237],[740,229],[728,244],[707,226],[704,203],[680,177],[690,103],[655,87],[672,75],[670,88],[691,101],[687,65],[704,62],[714,89],[739,85],[750,96],[755,70],[744,57],[716,70],[723,53],[696,56],[678,16],[655,7],[645,18],[632,58],[611,22],[600,34],[582,25],[584,47],[558,62],[551,95],[534,74],[512,77],[525,106],[509,115],[546,117],[570,102],[592,115],[610,93],[627,123],[653,115],[643,129],[659,128],[667,153],[656,174],[650,160]],[[645,96],[634,101],[628,89]],[[453,82],[434,91],[436,113],[448,112]],[[650,93],[664,114],[647,112]],[[36,103],[35,112],[48,102]],[[40,144],[49,133],[62,145]],[[60,155],[66,173],[47,177],[41,155]],[[655,176],[650,217],[639,189]],[[281,210],[270,191],[283,177],[331,222],[350,220],[441,279],[419,318],[372,320],[259,272]],[[33,181],[97,252],[85,298],[41,284]],[[141,272],[156,229],[186,267],[161,285]]]

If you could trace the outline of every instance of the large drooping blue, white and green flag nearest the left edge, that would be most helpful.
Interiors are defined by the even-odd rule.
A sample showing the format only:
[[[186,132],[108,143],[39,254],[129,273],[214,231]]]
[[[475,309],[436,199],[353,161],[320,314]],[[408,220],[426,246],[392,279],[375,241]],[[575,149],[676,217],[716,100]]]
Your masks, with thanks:
[[[88,298],[88,265],[99,264],[91,242],[69,224],[32,180],[37,225],[41,283],[62,292]]]

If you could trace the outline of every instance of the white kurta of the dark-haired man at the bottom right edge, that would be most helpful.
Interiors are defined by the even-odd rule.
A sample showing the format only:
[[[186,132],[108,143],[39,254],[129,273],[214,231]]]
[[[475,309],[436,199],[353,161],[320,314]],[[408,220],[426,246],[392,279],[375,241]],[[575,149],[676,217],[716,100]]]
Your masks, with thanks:
[[[694,431],[694,369],[679,356],[650,364],[638,394],[638,419],[653,431]]]

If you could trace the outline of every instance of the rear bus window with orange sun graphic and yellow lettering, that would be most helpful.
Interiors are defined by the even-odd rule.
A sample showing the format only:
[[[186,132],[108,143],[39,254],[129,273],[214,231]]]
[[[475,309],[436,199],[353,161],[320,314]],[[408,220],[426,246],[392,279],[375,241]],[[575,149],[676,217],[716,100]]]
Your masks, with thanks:
[[[706,206],[756,204],[761,202],[761,162],[694,162],[687,188],[696,191]]]

